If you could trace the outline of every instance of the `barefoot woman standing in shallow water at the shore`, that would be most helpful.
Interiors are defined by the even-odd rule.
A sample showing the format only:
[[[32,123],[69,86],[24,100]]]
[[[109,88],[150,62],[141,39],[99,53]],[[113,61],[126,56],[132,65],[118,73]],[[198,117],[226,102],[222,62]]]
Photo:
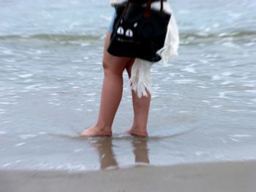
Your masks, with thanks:
[[[130,0],[130,2],[136,4],[145,4],[148,0]],[[155,4],[160,0],[151,0]],[[158,1],[158,2],[157,2]],[[166,0],[165,0],[166,1]],[[110,0],[112,6],[115,4],[121,4],[124,0]],[[154,4],[152,4],[153,6]],[[169,9],[167,2],[164,4],[164,9]],[[104,80],[102,85],[102,96],[99,107],[99,115],[97,123],[90,128],[87,128],[81,133],[83,137],[110,137],[112,135],[113,120],[118,110],[118,106],[121,101],[123,93],[123,72],[126,70],[129,79],[132,77],[132,66],[135,63],[135,58],[116,57],[108,53],[108,46],[110,45],[110,36],[113,31],[113,20],[116,14],[112,18],[110,28],[105,37],[105,47],[103,53],[102,66],[104,69]],[[170,33],[172,32],[172,33]],[[177,55],[178,50],[178,30],[176,28],[176,22],[172,16],[167,37],[165,39],[165,50],[162,53],[162,57],[167,60]],[[143,69],[140,69],[141,71]],[[145,74],[145,73],[143,73]],[[138,78],[137,78],[138,79]],[[134,110],[134,119],[132,128],[127,130],[128,134],[132,134],[140,137],[147,137],[147,122],[148,112],[151,101],[151,93],[149,88],[146,87],[146,93],[143,96],[138,95],[138,91],[132,89],[132,104]]]

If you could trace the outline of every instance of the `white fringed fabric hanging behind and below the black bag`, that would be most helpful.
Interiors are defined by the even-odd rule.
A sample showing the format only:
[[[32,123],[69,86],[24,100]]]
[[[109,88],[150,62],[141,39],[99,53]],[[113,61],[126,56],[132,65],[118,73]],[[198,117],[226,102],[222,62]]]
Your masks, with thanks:
[[[113,5],[124,1],[125,0],[110,0],[110,3]],[[144,6],[146,6],[146,4],[144,4]],[[152,3],[151,8],[160,9],[159,1]],[[162,66],[167,66],[167,63],[171,58],[178,56],[179,35],[176,19],[168,2],[164,2],[164,11],[172,13],[172,16],[167,26],[165,45],[161,50],[158,50],[157,53],[162,57],[162,60],[159,61],[162,62]],[[132,65],[131,77],[129,78],[129,88],[134,90],[139,98],[141,96],[148,96],[148,93],[151,93],[150,69],[153,64],[155,63],[135,58],[135,63]]]

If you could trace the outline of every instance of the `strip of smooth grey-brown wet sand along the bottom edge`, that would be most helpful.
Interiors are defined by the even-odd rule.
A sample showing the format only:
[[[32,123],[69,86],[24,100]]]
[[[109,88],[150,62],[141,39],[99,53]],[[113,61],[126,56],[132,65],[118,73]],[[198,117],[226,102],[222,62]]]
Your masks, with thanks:
[[[256,161],[138,166],[93,172],[1,170],[0,186],[1,192],[249,192],[256,188]]]

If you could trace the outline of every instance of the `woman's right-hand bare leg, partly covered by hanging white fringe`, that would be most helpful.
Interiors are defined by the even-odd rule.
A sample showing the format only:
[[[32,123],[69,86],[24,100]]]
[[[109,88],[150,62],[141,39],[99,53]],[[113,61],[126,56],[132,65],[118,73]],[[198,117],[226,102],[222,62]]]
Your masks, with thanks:
[[[132,72],[132,64],[134,63],[134,59],[131,59],[127,64],[127,73],[129,78],[131,77]],[[151,101],[151,94],[148,92],[148,96],[142,96],[139,98],[137,93],[132,90],[132,104],[134,111],[134,118],[132,123],[132,128],[127,130],[129,134],[147,137],[147,123],[148,123],[148,113]]]

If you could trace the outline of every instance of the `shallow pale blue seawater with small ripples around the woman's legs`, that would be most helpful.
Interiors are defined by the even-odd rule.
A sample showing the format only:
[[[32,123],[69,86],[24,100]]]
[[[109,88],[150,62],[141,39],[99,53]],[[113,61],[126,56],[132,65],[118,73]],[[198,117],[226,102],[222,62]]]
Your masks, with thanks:
[[[151,69],[147,139],[86,139],[97,119],[113,9],[97,1],[0,2],[0,169],[95,170],[256,158],[256,2],[176,1],[179,57]]]

